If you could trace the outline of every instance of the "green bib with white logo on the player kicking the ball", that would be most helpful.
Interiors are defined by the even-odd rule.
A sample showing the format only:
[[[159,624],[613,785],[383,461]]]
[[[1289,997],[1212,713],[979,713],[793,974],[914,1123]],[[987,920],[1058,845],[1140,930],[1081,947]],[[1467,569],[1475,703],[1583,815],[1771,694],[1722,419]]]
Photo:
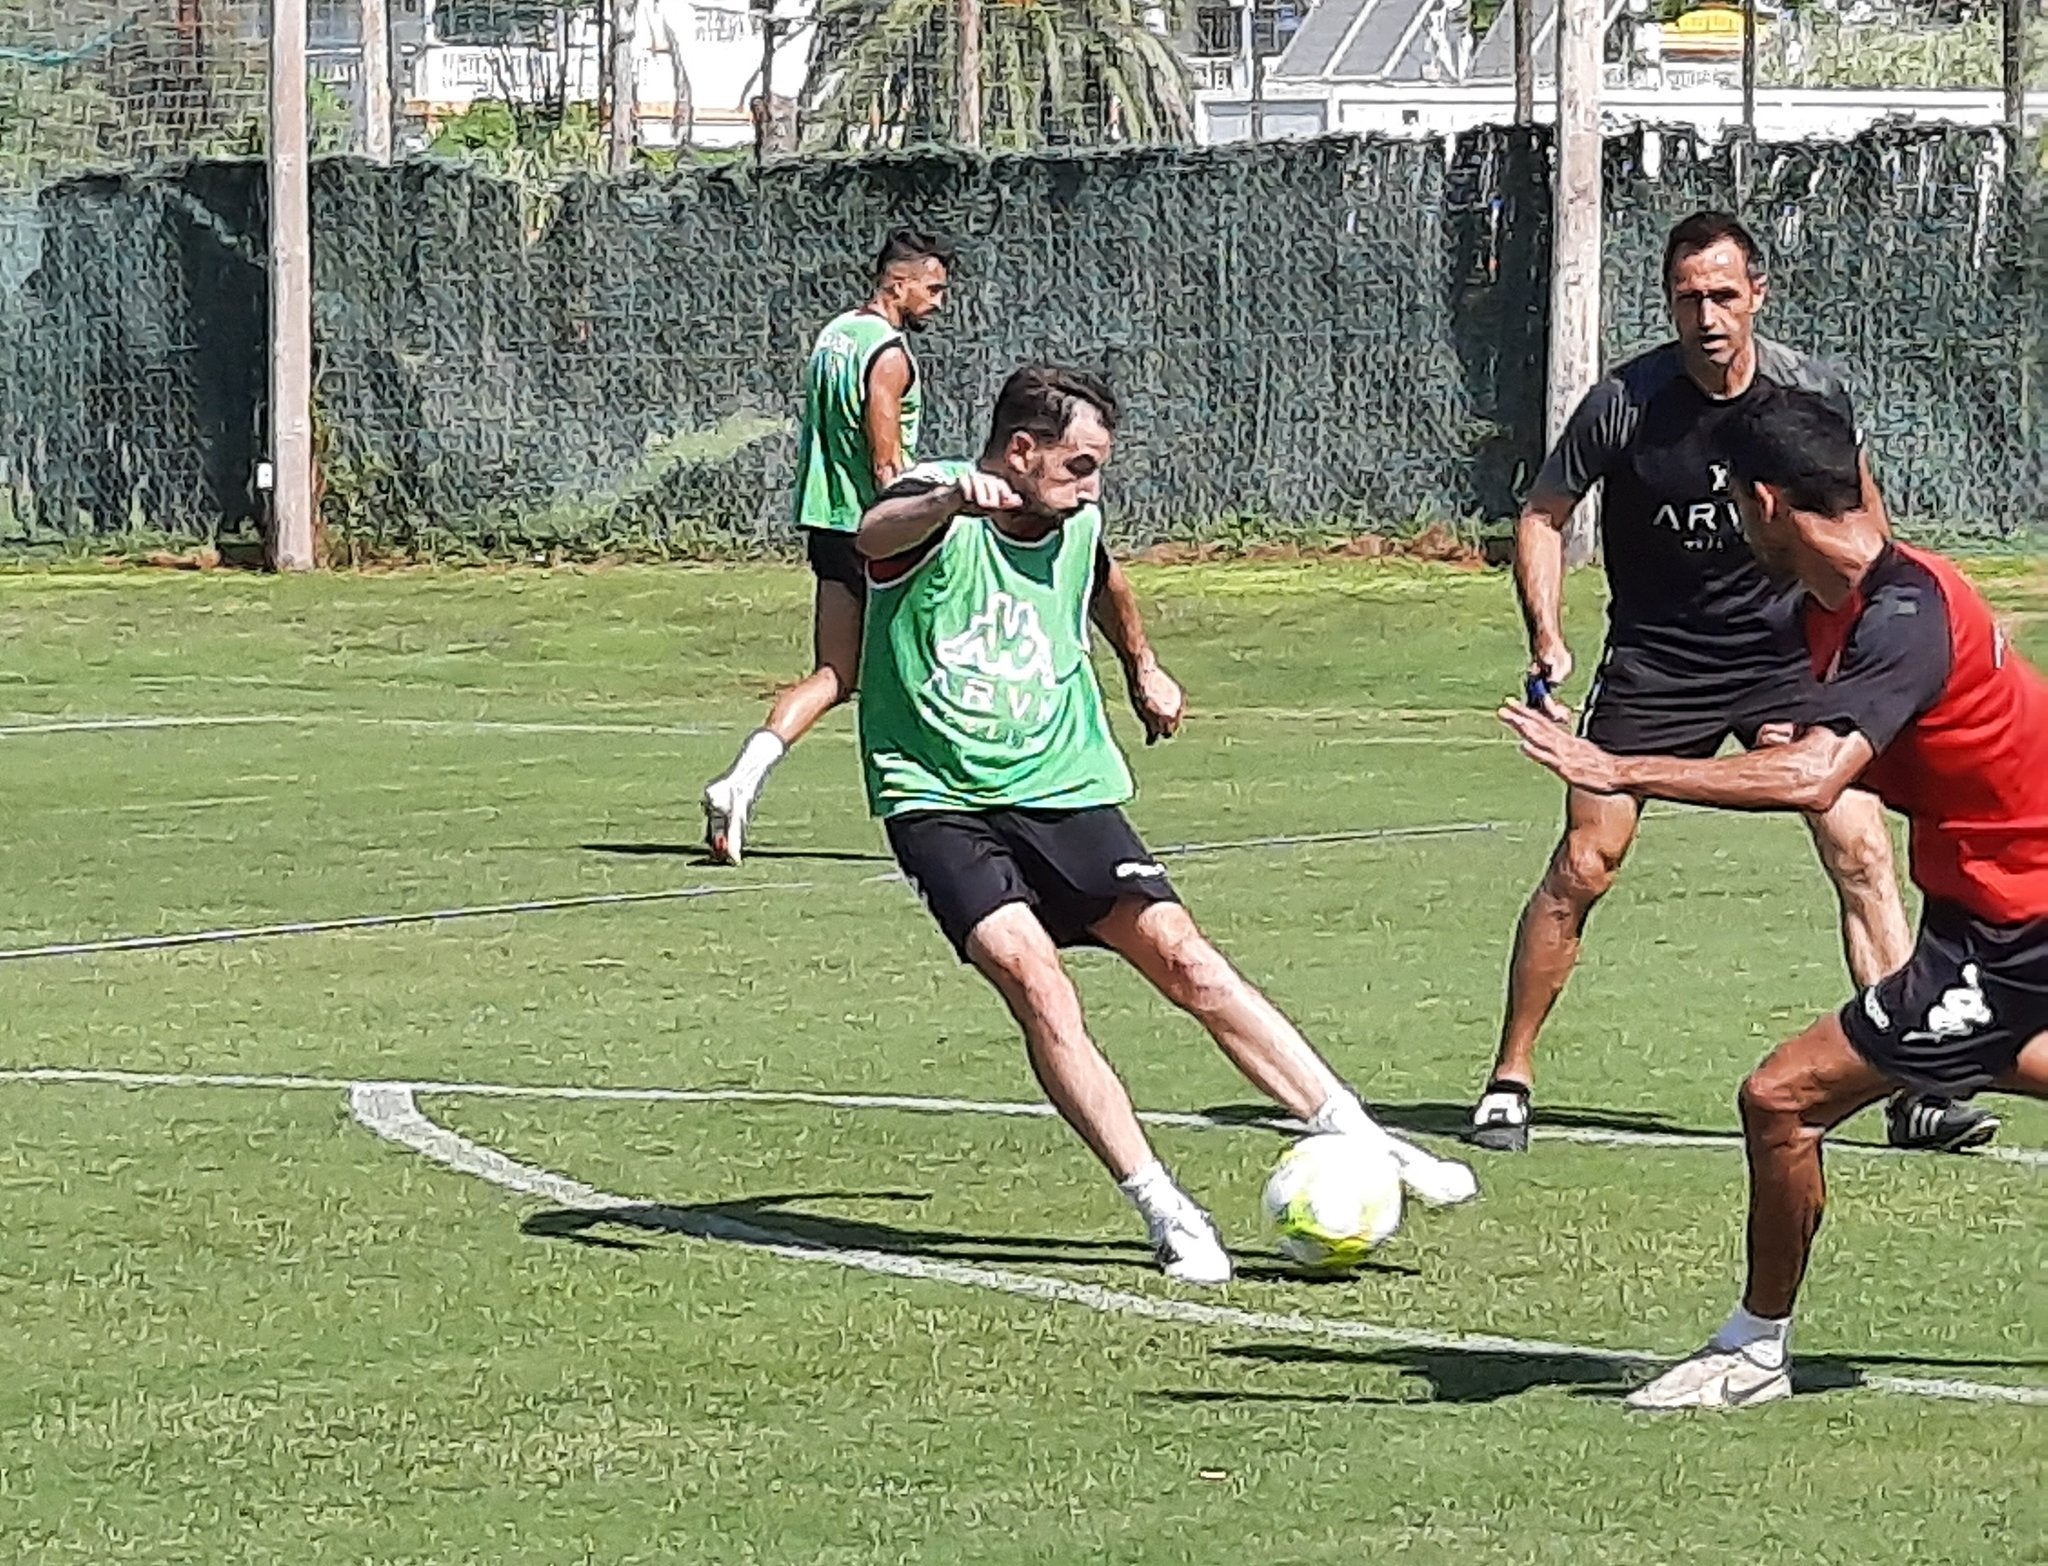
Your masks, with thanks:
[[[952,483],[971,463],[928,463]],[[868,809],[1079,811],[1130,798],[1087,661],[1102,512],[1049,538],[956,516],[905,577],[870,583],[860,647]]]

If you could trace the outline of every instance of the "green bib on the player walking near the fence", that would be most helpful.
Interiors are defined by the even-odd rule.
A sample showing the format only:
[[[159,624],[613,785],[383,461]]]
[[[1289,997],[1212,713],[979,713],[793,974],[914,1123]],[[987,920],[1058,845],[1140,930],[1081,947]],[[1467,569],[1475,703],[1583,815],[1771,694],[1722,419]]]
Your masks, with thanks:
[[[797,526],[854,532],[874,504],[874,454],[868,450],[868,371],[874,356],[903,342],[903,332],[866,309],[825,323],[803,373],[803,426],[797,432]],[[924,391],[911,366],[903,393],[903,461],[918,461]]]

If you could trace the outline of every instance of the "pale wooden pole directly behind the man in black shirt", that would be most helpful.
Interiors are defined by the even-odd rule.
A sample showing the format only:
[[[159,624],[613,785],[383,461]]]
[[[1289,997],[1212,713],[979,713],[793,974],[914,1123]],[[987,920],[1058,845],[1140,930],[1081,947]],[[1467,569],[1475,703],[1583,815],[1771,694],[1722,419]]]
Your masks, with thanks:
[[[1550,385],[1544,436],[1599,375],[1599,55],[1602,0],[1559,0],[1556,186],[1550,211]],[[1565,563],[1593,559],[1595,516],[1579,506],[1565,534]]]

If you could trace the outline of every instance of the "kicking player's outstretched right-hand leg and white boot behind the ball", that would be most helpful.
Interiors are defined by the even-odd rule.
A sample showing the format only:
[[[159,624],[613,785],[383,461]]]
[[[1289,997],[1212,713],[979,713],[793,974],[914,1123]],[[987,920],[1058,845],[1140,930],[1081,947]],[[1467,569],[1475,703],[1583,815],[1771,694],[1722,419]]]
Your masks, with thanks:
[[[1200,1021],[1245,1081],[1311,1132],[1384,1144],[1401,1167],[1403,1185],[1434,1206],[1479,1195],[1479,1181],[1462,1163],[1438,1159],[1374,1122],[1300,1030],[1231,966],[1180,903],[1120,899],[1094,933]]]

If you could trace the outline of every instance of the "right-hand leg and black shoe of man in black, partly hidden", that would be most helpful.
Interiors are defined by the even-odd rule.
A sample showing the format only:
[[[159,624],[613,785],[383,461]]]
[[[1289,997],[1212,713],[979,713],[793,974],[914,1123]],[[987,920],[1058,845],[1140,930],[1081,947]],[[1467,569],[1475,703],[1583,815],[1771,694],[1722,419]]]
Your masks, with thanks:
[[[1841,950],[1858,987],[1898,972],[1913,956],[1913,929],[1892,868],[1892,833],[1876,794],[1851,788],[1835,809],[1808,815],[1815,850],[1841,903]],[[1966,1152],[1999,1134],[1999,1118],[1970,1103],[1901,1089],[1886,1110],[1892,1146]]]

